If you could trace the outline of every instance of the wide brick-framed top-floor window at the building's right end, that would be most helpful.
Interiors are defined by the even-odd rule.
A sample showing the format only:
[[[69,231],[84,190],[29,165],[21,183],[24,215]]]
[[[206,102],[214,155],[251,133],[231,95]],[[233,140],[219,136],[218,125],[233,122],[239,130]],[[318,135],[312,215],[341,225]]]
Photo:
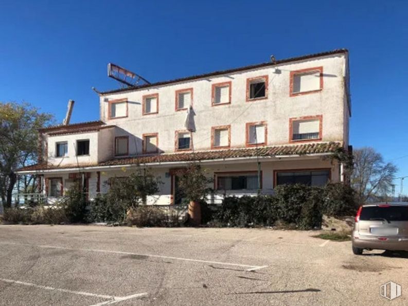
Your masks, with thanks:
[[[323,67],[291,71],[290,95],[314,93],[323,89]]]

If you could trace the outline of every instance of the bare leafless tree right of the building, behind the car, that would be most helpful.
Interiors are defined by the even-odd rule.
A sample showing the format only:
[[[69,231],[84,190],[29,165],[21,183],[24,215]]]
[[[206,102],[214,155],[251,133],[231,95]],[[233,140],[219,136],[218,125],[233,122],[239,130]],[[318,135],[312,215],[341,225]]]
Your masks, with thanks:
[[[387,195],[391,191],[397,167],[393,163],[385,163],[382,155],[370,147],[354,150],[353,156],[351,185],[356,190],[359,203]]]

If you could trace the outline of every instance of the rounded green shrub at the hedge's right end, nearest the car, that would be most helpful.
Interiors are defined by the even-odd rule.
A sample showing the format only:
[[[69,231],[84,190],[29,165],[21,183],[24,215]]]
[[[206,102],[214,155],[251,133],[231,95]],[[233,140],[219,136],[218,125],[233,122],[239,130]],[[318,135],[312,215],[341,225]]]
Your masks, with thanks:
[[[323,189],[322,212],[328,216],[341,217],[354,215],[358,204],[356,192],[347,184],[328,184]]]

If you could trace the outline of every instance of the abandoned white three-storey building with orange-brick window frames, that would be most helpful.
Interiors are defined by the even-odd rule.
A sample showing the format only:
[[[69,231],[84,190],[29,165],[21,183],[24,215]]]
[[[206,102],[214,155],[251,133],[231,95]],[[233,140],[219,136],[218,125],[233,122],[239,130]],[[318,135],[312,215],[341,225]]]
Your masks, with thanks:
[[[19,174],[38,174],[44,195],[62,196],[83,175],[92,198],[109,188],[110,177],[149,167],[164,183],[149,203],[177,204],[175,170],[191,161],[214,175],[223,194],[345,180],[342,165],[327,158],[349,146],[345,49],[99,96],[100,121],[40,130],[39,162]]]

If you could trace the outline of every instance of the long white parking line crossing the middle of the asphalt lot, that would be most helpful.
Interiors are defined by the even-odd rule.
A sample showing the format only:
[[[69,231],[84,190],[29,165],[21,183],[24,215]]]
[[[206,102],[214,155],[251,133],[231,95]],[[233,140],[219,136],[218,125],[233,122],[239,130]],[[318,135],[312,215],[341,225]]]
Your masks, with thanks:
[[[113,253],[113,254],[123,254],[123,255],[135,255],[135,256],[146,256],[146,257],[154,257],[154,258],[174,259],[174,260],[182,260],[182,261],[203,262],[203,263],[210,263],[210,264],[220,264],[220,265],[229,265],[229,266],[248,268],[246,269],[246,271],[254,271],[254,270],[258,270],[258,269],[267,267],[267,266],[256,266],[256,265],[249,265],[249,264],[239,264],[239,263],[230,263],[230,262],[221,262],[221,261],[209,261],[209,260],[201,260],[201,259],[162,256],[162,255],[139,254],[139,253],[102,250],[102,249],[72,248],[72,247],[54,246],[54,245],[35,245],[35,244],[17,243],[17,242],[0,242],[0,244],[27,245],[27,246],[42,247],[42,248],[58,248],[58,249],[68,249],[68,250],[86,251],[86,252]]]

